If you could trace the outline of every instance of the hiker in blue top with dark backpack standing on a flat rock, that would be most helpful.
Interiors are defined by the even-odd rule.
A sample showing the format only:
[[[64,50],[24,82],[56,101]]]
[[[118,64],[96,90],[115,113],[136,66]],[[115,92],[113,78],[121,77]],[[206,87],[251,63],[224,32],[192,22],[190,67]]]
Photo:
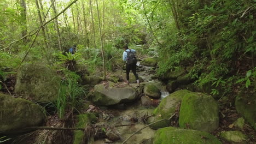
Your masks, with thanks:
[[[139,78],[136,73],[136,67],[137,67],[136,51],[133,49],[128,49],[127,45],[124,46],[123,61],[126,62],[126,80],[127,80],[126,83],[129,85],[129,73],[130,73],[130,70],[132,70],[132,73],[136,77],[136,81],[139,84]]]

